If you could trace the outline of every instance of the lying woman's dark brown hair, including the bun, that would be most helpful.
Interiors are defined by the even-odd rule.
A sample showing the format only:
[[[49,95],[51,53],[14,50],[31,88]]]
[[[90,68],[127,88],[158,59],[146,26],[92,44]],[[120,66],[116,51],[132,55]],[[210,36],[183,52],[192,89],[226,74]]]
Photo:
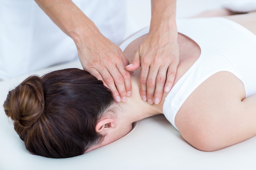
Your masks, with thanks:
[[[4,111],[27,150],[66,158],[83,154],[103,139],[95,125],[113,101],[103,82],[69,68],[28,77],[9,91]]]

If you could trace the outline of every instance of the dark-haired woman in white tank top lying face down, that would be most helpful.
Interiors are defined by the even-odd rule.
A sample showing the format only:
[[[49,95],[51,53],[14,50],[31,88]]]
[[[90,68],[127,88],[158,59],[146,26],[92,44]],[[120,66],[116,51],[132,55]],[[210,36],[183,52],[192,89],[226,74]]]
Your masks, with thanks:
[[[180,65],[159,104],[141,99],[139,70],[131,75],[127,102],[115,103],[101,81],[70,68],[25,79],[7,95],[5,113],[26,148],[45,157],[74,157],[105,146],[128,134],[133,122],[157,114],[199,150],[237,144],[256,135],[255,17],[178,21]],[[142,35],[133,37],[126,57],[133,57]]]

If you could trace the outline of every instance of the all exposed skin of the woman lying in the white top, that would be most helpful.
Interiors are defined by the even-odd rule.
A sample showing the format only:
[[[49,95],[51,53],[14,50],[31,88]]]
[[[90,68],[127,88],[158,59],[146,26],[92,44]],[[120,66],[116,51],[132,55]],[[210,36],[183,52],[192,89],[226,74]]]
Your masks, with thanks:
[[[226,16],[256,34],[256,23],[253,21],[255,17],[256,13]],[[131,59],[133,51],[146,37],[144,35],[132,42],[124,51],[125,55]],[[174,84],[200,56],[200,47],[193,40],[182,34],[178,35],[177,40],[180,46],[180,64]],[[131,76],[133,93],[127,102],[112,106],[117,108],[117,113],[108,111],[99,119],[95,129],[106,137],[86,152],[125,136],[132,129],[133,122],[163,113],[167,92],[163,94],[159,104],[144,102],[139,94],[139,77],[138,70]],[[198,100],[201,98],[204,100]],[[245,98],[245,88],[237,77],[221,71],[209,77],[191,93],[178,111],[175,124],[182,137],[198,150],[219,150],[256,135],[255,102],[256,95]]]

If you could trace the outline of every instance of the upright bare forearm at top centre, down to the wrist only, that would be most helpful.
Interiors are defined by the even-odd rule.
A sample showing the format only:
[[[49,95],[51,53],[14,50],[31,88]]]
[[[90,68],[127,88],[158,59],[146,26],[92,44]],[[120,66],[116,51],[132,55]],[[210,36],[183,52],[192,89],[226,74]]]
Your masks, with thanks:
[[[177,32],[176,0],[151,0],[150,31],[159,29]]]

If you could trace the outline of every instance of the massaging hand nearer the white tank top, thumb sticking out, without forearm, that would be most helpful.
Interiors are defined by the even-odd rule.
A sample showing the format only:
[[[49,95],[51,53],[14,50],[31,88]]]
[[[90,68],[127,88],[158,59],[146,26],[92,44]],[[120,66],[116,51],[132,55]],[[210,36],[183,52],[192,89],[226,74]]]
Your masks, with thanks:
[[[161,29],[149,32],[148,37],[138,47],[128,71],[141,66],[140,95],[149,104],[159,104],[164,91],[173,86],[179,64],[177,32]]]

